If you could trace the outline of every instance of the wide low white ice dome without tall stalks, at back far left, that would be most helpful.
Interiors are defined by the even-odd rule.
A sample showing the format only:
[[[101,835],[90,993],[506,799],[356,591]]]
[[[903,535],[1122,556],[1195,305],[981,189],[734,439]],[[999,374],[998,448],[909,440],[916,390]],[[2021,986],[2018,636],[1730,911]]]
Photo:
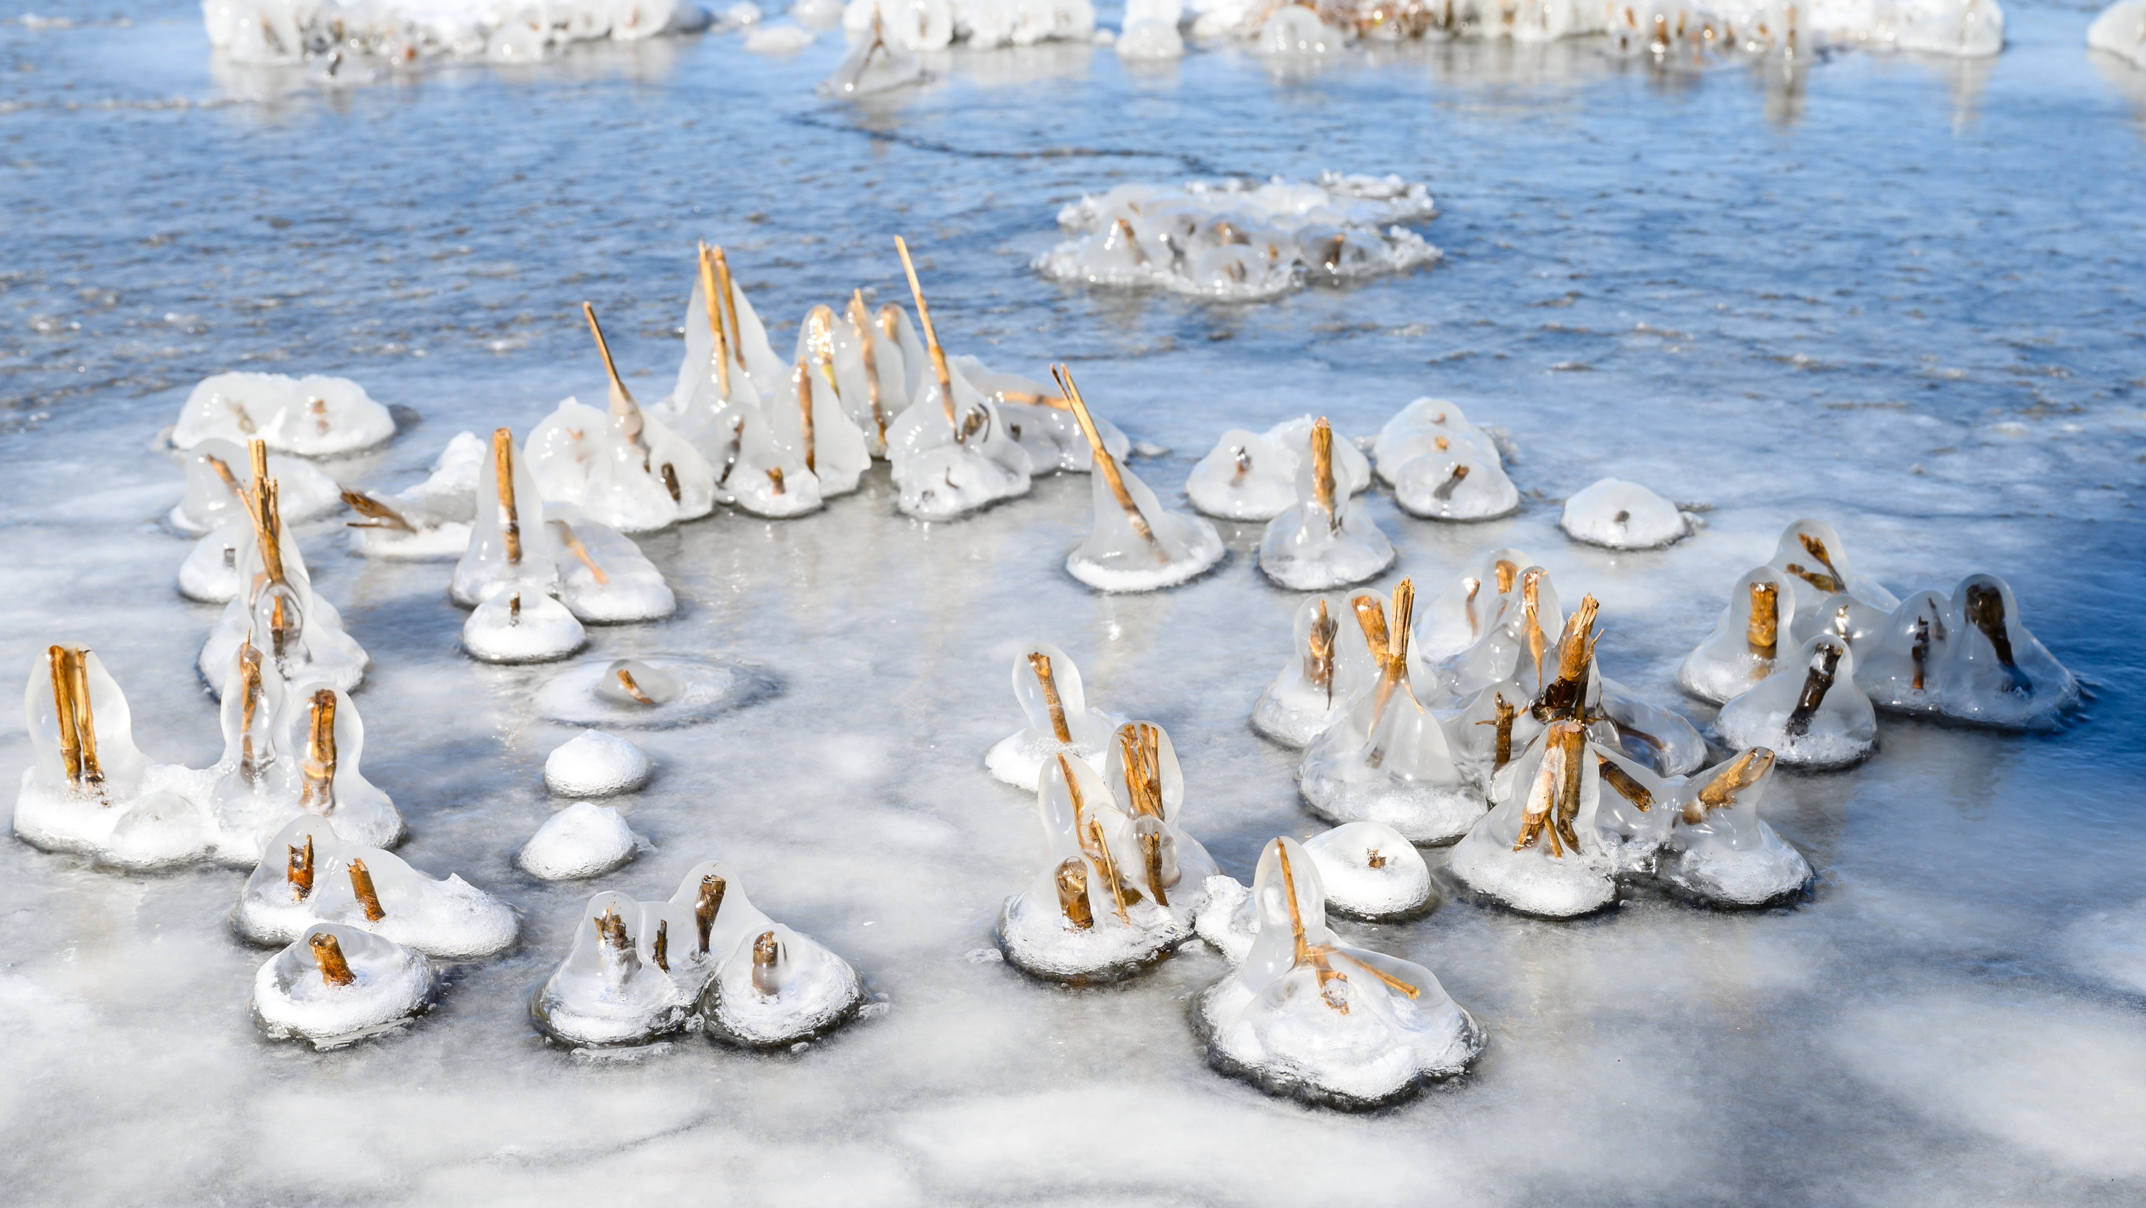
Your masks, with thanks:
[[[217,373],[204,378],[178,412],[172,444],[264,440],[277,453],[328,457],[371,448],[395,436],[395,416],[348,378]]]

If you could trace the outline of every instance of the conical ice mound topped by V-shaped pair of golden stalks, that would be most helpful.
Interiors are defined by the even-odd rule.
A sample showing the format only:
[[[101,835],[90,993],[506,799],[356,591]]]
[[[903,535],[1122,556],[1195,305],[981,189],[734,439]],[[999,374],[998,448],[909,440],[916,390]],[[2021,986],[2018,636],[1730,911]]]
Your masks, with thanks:
[[[1382,822],[1410,843],[1449,843],[1483,815],[1483,794],[1468,783],[1408,676],[1408,635],[1416,588],[1393,588],[1393,612],[1378,592],[1350,596],[1356,627],[1378,663],[1376,680],[1305,749],[1296,770],[1311,813],[1328,822]]]

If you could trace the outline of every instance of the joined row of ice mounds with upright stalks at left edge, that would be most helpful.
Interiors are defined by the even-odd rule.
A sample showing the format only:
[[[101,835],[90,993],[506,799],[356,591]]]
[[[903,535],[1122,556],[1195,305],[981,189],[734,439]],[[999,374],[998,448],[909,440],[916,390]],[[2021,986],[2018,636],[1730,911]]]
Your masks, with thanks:
[[[155,764],[133,740],[118,682],[94,652],[60,644],[30,672],[34,757],[15,798],[15,835],[122,869],[215,858],[253,865],[292,817],[324,817],[350,843],[393,845],[401,813],[358,770],[365,727],[328,684],[285,687],[251,646],[223,697],[223,760]]]

